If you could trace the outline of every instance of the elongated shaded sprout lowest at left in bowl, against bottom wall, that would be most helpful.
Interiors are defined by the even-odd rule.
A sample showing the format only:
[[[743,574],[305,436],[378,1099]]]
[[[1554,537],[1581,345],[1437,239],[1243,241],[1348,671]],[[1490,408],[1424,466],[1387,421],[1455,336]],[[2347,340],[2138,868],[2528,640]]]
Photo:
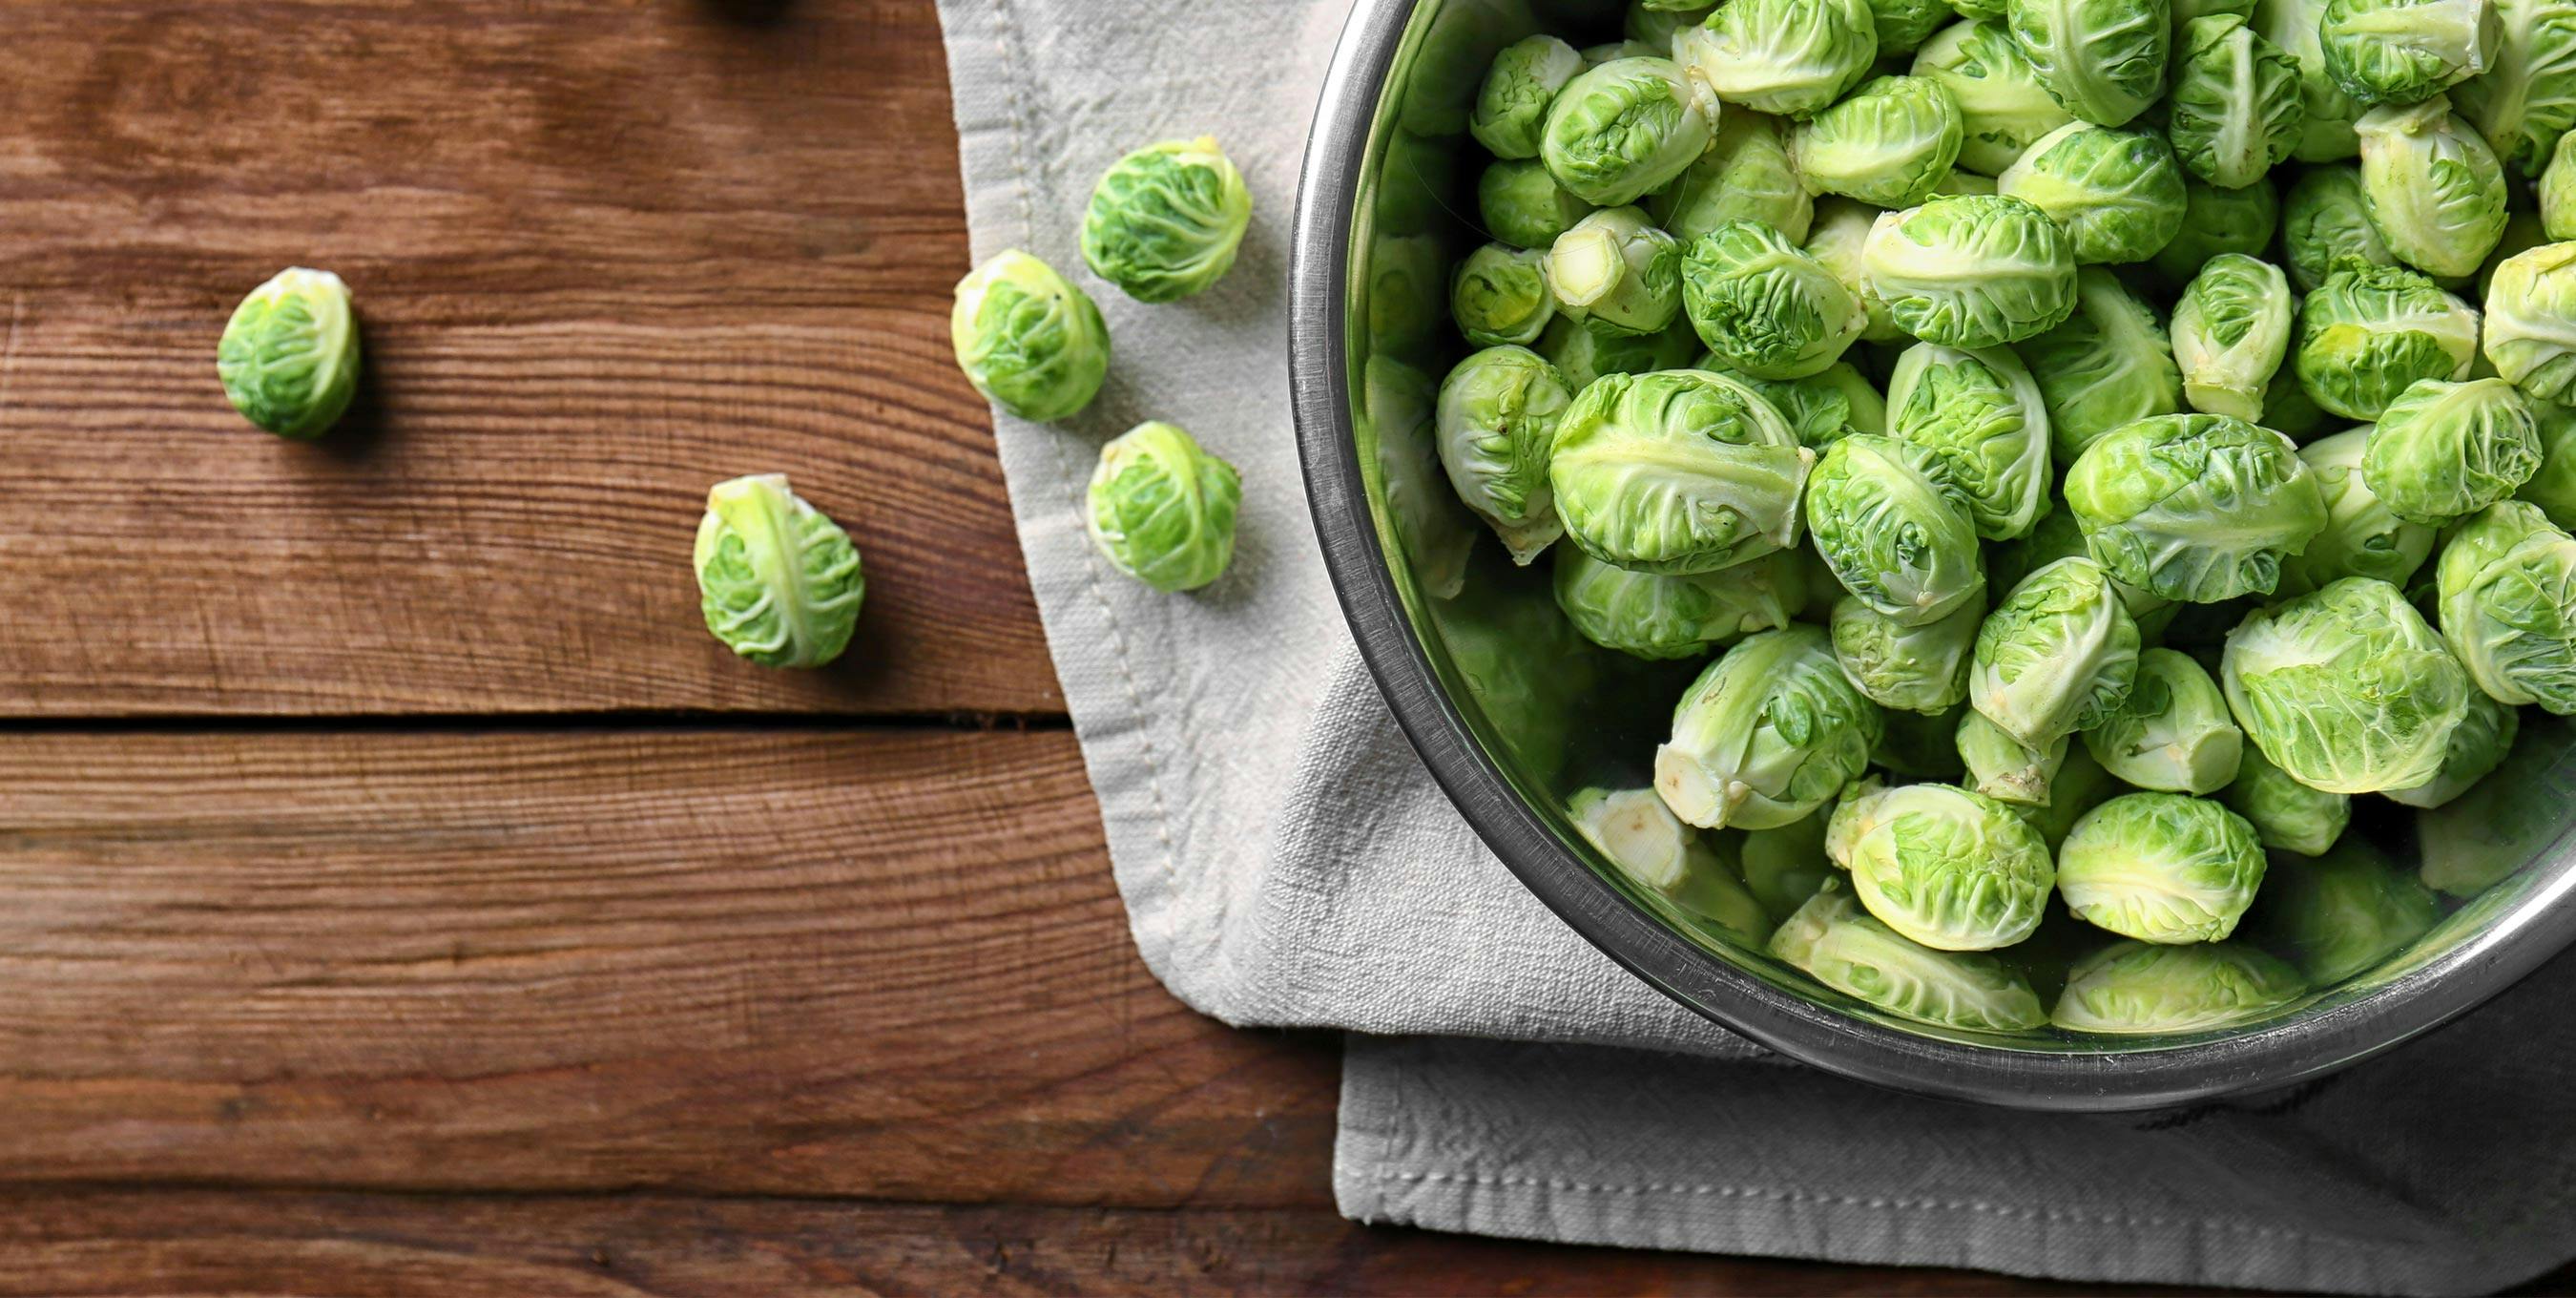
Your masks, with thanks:
[[[2048,1022],[2030,984],[1994,955],[1932,950],[1878,922],[1826,883],[1772,932],[1770,953],[1806,976],[1935,1028],[2027,1033]]]

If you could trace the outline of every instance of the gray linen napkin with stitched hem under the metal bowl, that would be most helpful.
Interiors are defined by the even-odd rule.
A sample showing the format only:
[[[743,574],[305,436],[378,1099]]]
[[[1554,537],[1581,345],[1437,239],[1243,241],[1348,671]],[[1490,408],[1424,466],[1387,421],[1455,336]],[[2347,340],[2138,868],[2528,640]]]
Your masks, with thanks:
[[[2576,1252],[2576,1089],[2558,1066],[2576,1028],[2550,1022],[2566,961],[2473,1025],[2290,1097],[2035,1118],[1780,1066],[1512,881],[1388,719],[1306,520],[1283,242],[1347,8],[940,0],[976,258],[1046,258],[1097,296],[1118,348],[1082,417],[994,417],[1118,891],[1146,966],[1193,1007],[1378,1033],[1345,1066],[1345,1213],[2396,1293],[2476,1290]],[[1082,270],[1082,203],[1121,152],[1193,134],[1244,167],[1252,237],[1216,291],[1141,306]],[[1146,417],[1244,474],[1236,567],[1198,595],[1126,582],[1082,533],[1097,446]]]

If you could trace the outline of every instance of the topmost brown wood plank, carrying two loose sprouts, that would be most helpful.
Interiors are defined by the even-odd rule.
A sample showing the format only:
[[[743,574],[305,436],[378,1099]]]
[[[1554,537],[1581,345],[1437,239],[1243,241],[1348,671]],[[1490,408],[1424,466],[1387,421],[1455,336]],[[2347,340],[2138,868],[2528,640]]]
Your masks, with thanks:
[[[350,278],[322,446],[214,381]],[[981,399],[927,0],[10,5],[0,716],[1061,711]],[[706,487],[858,536],[842,667],[714,644]]]

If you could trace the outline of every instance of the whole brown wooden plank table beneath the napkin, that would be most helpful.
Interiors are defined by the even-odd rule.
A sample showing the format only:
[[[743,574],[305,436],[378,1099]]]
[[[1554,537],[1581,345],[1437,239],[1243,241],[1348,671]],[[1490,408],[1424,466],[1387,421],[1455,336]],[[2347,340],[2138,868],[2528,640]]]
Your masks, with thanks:
[[[930,0],[0,33],[0,1290],[2048,1290],[1334,1216],[1334,1043],[1126,937]],[[289,263],[322,446],[214,381]],[[835,670],[698,623],[744,471],[866,549]]]

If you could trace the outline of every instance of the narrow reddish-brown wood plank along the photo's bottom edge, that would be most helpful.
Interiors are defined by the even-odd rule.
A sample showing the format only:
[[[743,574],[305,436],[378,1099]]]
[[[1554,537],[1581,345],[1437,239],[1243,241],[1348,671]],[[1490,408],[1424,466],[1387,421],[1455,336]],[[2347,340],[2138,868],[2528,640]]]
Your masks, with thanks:
[[[0,1295],[2112,1293],[1981,1272],[1577,1249],[1329,1210],[309,1192],[0,1195]],[[2184,1293],[2141,1290],[2117,1293]]]

